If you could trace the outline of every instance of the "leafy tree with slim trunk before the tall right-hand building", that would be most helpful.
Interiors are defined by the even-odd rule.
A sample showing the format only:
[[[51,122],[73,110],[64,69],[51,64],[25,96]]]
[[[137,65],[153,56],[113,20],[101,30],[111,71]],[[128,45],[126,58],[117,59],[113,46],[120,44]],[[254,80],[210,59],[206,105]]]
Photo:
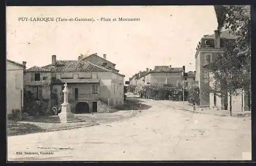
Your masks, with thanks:
[[[242,65],[233,48],[236,43],[225,41],[222,43],[225,53],[219,54],[217,59],[205,66],[207,72],[212,75],[212,86],[206,93],[215,93],[221,98],[227,98],[229,94],[229,111],[232,115],[232,96],[238,94],[238,89],[243,87]]]

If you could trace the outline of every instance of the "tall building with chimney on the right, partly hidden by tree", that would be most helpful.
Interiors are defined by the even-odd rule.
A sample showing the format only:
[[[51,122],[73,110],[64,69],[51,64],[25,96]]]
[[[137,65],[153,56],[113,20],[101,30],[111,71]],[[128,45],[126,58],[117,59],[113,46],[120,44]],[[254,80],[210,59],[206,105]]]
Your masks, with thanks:
[[[225,41],[234,42],[236,36],[229,33],[229,30],[222,31],[221,33],[216,30],[212,35],[204,35],[198,43],[197,52],[195,55],[196,60],[196,81],[200,89],[200,107],[209,107],[210,109],[228,110],[229,97],[220,98],[216,94],[206,94],[211,86],[214,86],[214,79],[211,73],[207,72],[205,66],[213,62],[219,54],[225,53],[223,43]],[[232,97],[232,107],[241,108],[246,111],[250,107],[250,97],[244,90],[241,90],[238,96]]]

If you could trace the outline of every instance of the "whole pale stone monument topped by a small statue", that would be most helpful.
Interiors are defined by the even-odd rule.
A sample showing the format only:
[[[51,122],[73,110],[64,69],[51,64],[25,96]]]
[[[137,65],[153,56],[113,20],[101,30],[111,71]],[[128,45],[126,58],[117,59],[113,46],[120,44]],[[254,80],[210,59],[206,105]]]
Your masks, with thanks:
[[[61,123],[68,123],[69,121],[74,120],[75,115],[71,112],[71,107],[68,101],[69,89],[67,83],[64,84],[64,87],[65,88],[62,90],[64,93],[64,102],[61,104],[61,112],[58,114],[58,116]]]

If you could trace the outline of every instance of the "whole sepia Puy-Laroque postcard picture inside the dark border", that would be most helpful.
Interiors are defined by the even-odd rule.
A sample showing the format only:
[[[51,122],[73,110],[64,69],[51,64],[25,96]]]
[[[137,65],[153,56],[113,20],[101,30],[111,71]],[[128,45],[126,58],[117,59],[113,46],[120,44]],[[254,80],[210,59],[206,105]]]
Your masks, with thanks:
[[[251,160],[250,6],[9,6],[8,161]]]

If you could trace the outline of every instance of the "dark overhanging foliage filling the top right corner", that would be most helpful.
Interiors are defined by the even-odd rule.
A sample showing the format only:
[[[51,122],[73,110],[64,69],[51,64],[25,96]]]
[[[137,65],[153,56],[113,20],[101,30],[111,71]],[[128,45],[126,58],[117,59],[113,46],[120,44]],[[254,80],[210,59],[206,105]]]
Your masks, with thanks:
[[[251,18],[249,5],[214,6],[218,30],[225,27],[237,36],[234,52],[242,65],[242,87],[250,96],[251,89]]]

